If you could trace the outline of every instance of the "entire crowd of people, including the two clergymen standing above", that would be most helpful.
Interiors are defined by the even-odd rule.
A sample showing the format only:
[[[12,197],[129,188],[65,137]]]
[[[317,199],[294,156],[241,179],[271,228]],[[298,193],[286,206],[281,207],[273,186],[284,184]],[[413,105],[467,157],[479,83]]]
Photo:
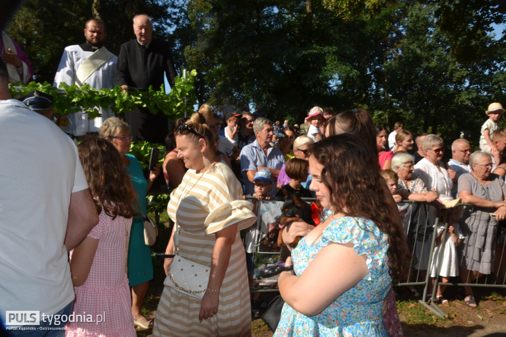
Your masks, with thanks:
[[[173,83],[172,56],[163,41],[152,39],[149,17],[136,16],[133,29],[136,39],[116,58],[103,49],[103,22],[89,20],[86,44],[65,49],[55,85],[96,81],[101,87],[108,76],[124,90],[146,89],[161,85],[160,71]],[[69,322],[57,330],[67,322],[41,321],[33,335],[48,328],[55,336],[135,336],[135,325],[152,327],[153,336],[250,335],[251,310],[263,305],[258,294],[250,295],[255,242],[248,233],[256,224],[256,201],[287,194],[314,197],[320,219],[317,226],[294,221],[282,232],[291,251],[285,266],[293,269],[279,276],[285,304],[275,335],[400,336],[392,284],[409,281],[411,270],[420,278],[431,271],[443,282],[459,276],[462,283],[504,272],[496,255],[505,236],[498,224],[506,220],[499,103],[486,111],[481,150],[472,152],[467,140],[457,139],[448,163],[437,135],[413,135],[402,122],[388,135],[363,109],[335,114],[315,106],[304,123],[290,125],[268,119],[261,105],[252,113],[247,104],[236,108],[230,98],[216,109],[203,104],[189,119],[176,120],[171,132],[162,113],[141,108],[125,120],[107,111],[93,121],[75,115],[70,134],[82,136],[76,147],[53,122],[51,96],[33,92],[24,104],[12,99],[9,74],[0,61],[0,142],[13,144],[3,148],[0,165],[3,323],[12,310],[105,311],[103,324]],[[161,168],[145,175],[129,153],[137,139],[165,140]],[[173,257],[164,259],[164,288],[150,321],[142,314],[153,279],[144,217],[146,193],[161,172],[175,224],[165,254]],[[19,200],[27,190],[33,200],[23,209]],[[402,200],[451,208],[458,199],[473,207],[452,208],[448,219],[441,212],[448,227],[446,235],[445,227],[435,229],[438,249],[405,233]],[[441,256],[433,259],[442,266],[439,274],[429,266],[430,251]],[[443,291],[440,286],[433,300],[447,303]],[[471,287],[463,295],[477,307]],[[17,325],[8,332],[26,324]]]

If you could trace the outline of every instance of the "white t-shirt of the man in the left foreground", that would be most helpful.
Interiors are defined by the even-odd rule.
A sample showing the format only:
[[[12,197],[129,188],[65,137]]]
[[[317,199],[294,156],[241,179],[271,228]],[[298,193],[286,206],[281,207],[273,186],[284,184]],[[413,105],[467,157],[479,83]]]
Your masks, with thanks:
[[[72,192],[88,188],[77,148],[48,118],[0,101],[0,319],[54,314],[74,299],[63,245]]]

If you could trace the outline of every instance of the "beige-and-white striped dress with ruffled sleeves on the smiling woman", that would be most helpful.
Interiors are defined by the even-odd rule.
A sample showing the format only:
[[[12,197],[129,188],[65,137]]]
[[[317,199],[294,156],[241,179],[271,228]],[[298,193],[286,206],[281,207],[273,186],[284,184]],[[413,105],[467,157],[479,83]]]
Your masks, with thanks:
[[[204,220],[218,206],[241,198],[241,185],[223,162],[202,174],[188,170],[167,205],[168,215],[179,225],[180,255],[210,266],[216,242],[214,233],[233,223],[222,217],[224,221],[215,221],[207,228],[206,235]],[[199,322],[201,301],[165,286],[156,309],[154,337],[251,335],[249,288],[240,229],[232,244],[230,262],[220,288],[218,313]]]

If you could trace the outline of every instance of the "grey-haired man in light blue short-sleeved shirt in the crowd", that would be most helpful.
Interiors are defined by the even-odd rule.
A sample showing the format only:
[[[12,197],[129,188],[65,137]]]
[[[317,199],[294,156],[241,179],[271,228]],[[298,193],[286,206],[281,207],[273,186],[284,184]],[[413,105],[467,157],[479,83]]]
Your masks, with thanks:
[[[239,155],[241,161],[241,175],[244,182],[244,195],[255,192],[253,182],[258,170],[266,168],[274,178],[273,188],[269,194],[276,194],[276,183],[279,170],[285,164],[283,153],[270,143],[272,142],[273,126],[272,121],[265,117],[255,119],[253,131],[257,139],[242,148]]]

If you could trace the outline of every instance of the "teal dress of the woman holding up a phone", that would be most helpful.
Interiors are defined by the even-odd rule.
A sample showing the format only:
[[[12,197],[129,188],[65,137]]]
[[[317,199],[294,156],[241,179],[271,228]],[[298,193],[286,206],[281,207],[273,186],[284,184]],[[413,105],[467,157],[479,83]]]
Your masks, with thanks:
[[[153,279],[153,262],[151,260],[151,248],[144,243],[144,221],[142,215],[147,214],[146,208],[146,189],[148,183],[144,178],[141,164],[131,154],[126,154],[130,160],[130,165],[124,167],[129,175],[140,201],[137,204],[137,211],[142,213],[134,218],[130,232],[130,241],[128,247],[128,280],[130,286],[138,285]]]

